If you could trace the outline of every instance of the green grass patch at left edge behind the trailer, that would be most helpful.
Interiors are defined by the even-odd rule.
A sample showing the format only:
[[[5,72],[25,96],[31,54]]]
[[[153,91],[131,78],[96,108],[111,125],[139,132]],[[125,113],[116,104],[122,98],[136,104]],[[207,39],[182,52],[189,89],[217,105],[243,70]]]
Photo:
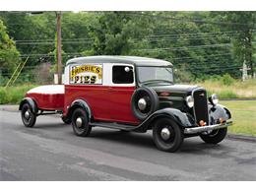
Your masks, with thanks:
[[[35,85],[23,85],[17,87],[0,87],[0,104],[18,104],[25,94],[36,87]]]

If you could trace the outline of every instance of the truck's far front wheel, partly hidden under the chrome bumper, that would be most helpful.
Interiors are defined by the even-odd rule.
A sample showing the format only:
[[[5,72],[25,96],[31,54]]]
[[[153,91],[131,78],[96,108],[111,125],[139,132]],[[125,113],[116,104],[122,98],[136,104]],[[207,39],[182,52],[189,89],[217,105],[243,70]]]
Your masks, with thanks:
[[[200,138],[207,144],[218,144],[224,140],[227,128],[213,130],[210,134],[200,135]]]

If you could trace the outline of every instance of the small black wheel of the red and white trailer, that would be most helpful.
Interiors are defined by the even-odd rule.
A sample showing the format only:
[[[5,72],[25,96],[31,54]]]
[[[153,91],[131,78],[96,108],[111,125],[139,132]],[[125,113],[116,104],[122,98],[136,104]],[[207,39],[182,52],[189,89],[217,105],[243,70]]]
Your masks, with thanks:
[[[22,115],[23,124],[26,127],[32,127],[35,124],[36,115],[32,112],[32,107],[28,102],[23,104],[21,115]]]

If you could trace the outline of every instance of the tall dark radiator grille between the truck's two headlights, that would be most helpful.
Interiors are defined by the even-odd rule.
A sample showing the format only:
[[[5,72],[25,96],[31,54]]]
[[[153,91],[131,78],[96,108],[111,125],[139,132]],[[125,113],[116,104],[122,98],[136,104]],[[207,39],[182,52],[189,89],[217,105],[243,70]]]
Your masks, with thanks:
[[[209,125],[208,100],[206,91],[196,90],[192,94],[194,97],[194,115],[197,124],[203,120],[207,123],[207,125]]]

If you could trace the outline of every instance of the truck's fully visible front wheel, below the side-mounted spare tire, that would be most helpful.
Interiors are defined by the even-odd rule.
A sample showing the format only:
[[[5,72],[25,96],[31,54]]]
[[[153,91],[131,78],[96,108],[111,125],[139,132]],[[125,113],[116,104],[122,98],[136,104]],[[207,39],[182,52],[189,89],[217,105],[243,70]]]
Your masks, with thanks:
[[[160,118],[153,127],[153,139],[161,151],[176,152],[183,138],[180,127],[169,118]]]

